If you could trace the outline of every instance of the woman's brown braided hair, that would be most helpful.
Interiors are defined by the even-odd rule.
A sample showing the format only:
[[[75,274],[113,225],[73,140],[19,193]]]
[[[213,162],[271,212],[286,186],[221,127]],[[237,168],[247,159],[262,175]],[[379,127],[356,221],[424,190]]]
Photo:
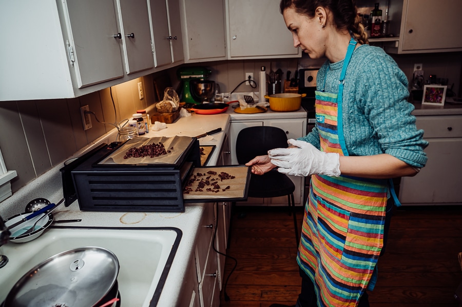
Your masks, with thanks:
[[[369,44],[361,17],[357,14],[355,0],[281,0],[279,9],[282,13],[285,9],[294,8],[297,13],[313,18],[319,6],[332,12],[338,29],[347,29],[358,43]]]

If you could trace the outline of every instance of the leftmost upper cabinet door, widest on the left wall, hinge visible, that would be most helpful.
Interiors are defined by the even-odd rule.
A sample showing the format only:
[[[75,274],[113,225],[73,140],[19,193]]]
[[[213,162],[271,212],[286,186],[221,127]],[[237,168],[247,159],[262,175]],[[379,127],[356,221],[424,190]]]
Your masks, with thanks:
[[[112,0],[66,0],[64,7],[78,87],[123,77]]]

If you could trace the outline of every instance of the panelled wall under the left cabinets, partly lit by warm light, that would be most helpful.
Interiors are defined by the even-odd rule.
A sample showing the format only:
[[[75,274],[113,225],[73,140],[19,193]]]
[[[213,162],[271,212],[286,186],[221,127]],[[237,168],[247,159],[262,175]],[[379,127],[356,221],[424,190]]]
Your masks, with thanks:
[[[156,102],[152,77],[112,87],[117,121],[131,118],[136,110]],[[140,81],[144,89],[142,100],[138,95]],[[71,99],[0,103],[0,148],[7,169],[17,172],[17,177],[11,180],[13,193],[115,128],[91,115],[92,128],[85,131],[80,115],[80,107],[85,105],[101,122],[115,123],[109,88]]]

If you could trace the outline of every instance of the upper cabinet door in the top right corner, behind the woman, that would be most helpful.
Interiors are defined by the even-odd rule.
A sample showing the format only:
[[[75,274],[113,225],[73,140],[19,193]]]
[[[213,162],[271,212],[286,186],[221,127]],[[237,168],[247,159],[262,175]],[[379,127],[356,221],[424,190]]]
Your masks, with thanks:
[[[407,0],[403,7],[401,51],[462,50],[462,1]],[[435,19],[438,16],[444,22]]]

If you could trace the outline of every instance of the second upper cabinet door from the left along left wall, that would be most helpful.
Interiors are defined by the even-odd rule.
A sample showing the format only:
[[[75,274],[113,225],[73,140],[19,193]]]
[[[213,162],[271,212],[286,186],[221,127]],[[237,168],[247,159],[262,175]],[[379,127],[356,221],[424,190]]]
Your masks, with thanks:
[[[154,66],[146,0],[118,0],[127,74]]]

